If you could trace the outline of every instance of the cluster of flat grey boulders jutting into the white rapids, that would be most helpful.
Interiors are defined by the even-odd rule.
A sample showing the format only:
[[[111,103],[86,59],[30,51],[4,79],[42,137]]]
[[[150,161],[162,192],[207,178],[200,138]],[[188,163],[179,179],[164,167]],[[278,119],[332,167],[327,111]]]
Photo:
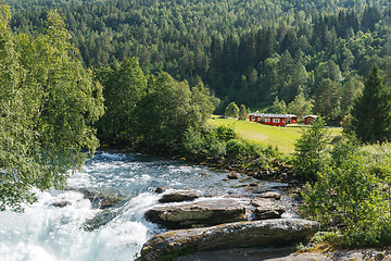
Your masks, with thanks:
[[[172,260],[236,248],[294,247],[319,228],[316,222],[294,219],[294,201],[276,190],[213,197],[191,189],[156,191],[162,192],[161,206],[148,210],[146,219],[169,231],[148,240],[140,260]]]

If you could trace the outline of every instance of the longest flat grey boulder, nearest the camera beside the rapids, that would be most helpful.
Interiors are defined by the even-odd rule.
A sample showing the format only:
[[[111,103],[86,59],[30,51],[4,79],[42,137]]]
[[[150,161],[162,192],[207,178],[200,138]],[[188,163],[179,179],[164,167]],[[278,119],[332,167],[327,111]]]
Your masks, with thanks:
[[[318,228],[317,222],[278,219],[172,231],[148,240],[142,247],[141,259],[153,261],[189,252],[294,245],[312,237]]]

